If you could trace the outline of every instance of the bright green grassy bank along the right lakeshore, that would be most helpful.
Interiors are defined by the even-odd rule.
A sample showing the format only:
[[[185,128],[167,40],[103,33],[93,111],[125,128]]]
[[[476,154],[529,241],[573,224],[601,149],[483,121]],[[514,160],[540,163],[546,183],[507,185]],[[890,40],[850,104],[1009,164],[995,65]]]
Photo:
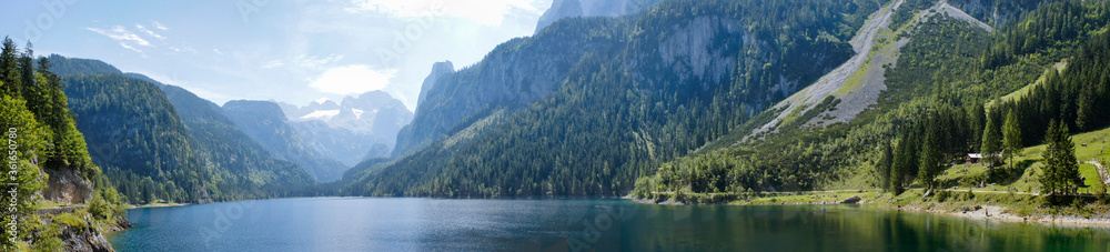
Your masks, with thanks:
[[[1076,158],[1089,161],[1100,157],[1100,160],[1110,158],[1103,150],[1110,144],[1110,128],[1073,134],[1072,141],[1076,143]],[[1087,147],[1082,147],[1087,143]],[[978,184],[981,178],[987,174],[987,168],[978,164],[956,164],[946,170],[938,178],[941,184],[947,188],[946,196],[924,196],[925,192],[919,187],[910,189],[902,194],[892,195],[875,189],[867,190],[838,190],[820,192],[794,192],[764,194],[748,200],[734,201],[733,204],[825,204],[836,203],[852,195],[858,195],[864,203],[886,206],[886,208],[918,208],[931,211],[962,211],[965,208],[976,205],[997,205],[1006,209],[1006,213],[1018,216],[1047,218],[1048,215],[1070,215],[1076,218],[1110,218],[1103,209],[1110,208],[1110,201],[1106,196],[1098,196],[1106,192],[1106,185],[1099,181],[1098,171],[1092,164],[1081,164],[1079,172],[1087,178],[1087,185],[1079,190],[1080,193],[1091,194],[1077,198],[1072,204],[1059,208],[1042,206],[1045,198],[1038,194],[1040,182],[1037,175],[1045,167],[1041,162],[1041,153],[1046,145],[1029,147],[1021,151],[1021,155],[1013,159],[1016,169],[1007,172],[1007,168],[998,168],[1003,173],[1012,175],[1005,179],[1002,183],[988,184],[985,188],[971,188]],[[848,184],[845,184],[848,185]],[[864,188],[864,187],[860,187]],[[968,192],[970,189],[970,193]]]

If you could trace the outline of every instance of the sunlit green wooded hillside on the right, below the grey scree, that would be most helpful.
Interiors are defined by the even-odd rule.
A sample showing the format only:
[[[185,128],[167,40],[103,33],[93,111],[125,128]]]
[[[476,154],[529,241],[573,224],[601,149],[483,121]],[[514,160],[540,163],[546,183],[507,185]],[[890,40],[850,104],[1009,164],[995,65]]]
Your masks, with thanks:
[[[1002,165],[1023,147],[1059,142],[1046,138],[1051,123],[1070,132],[1106,127],[1104,112],[1094,111],[1110,111],[1110,3],[995,6],[1001,8],[998,13],[1020,18],[988,32],[948,14],[918,14],[896,29],[909,43],[896,65],[885,67],[888,89],[857,119],[785,129],[761,141],[722,138],[726,142],[712,144],[719,148],[665,163],[655,175],[637,180],[634,194],[719,202],[760,191],[936,189],[941,171],[967,153],[1001,153],[1003,159],[991,165]],[[993,171],[981,182],[1010,183],[1012,174],[1025,172]],[[1066,193],[1061,189],[1031,190]]]

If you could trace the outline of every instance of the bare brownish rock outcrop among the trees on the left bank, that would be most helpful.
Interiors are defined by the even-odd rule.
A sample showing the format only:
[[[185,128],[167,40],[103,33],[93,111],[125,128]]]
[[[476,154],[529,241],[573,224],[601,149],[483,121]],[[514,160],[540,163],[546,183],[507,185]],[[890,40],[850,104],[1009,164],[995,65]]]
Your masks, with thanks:
[[[69,169],[46,169],[50,179],[42,198],[70,204],[88,203],[92,199],[92,183],[81,177],[81,173]]]

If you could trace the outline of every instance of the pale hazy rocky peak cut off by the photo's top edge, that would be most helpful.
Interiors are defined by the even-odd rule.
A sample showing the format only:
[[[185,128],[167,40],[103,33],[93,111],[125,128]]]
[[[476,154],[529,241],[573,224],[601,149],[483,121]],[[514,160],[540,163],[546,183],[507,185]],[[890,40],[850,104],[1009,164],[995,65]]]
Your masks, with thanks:
[[[555,0],[539,17],[536,33],[555,21],[575,17],[619,17],[650,8],[660,0]]]

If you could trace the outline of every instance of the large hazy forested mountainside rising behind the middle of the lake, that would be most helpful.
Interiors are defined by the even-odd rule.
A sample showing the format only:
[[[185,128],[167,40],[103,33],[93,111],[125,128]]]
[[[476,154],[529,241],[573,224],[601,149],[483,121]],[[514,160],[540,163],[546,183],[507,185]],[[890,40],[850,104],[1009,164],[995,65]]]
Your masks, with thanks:
[[[623,195],[842,63],[879,4],[664,1],[564,19],[441,78],[398,137],[398,150],[417,151],[365,169],[344,193]]]

